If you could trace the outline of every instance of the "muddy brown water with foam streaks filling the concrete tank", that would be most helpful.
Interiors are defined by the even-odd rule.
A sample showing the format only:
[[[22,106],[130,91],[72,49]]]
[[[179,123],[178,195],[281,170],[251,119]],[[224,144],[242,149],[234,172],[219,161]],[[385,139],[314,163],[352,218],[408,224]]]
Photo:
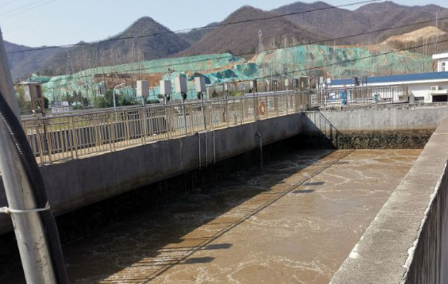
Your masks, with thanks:
[[[71,283],[328,283],[420,152],[307,150],[240,171],[64,246]]]

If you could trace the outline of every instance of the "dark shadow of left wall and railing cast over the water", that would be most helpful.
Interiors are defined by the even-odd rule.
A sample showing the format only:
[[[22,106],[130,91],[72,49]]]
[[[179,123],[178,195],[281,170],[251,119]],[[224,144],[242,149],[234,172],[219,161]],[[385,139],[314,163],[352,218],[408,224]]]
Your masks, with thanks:
[[[288,147],[285,147],[285,145],[288,145]],[[103,264],[104,267],[95,267],[95,269],[93,269],[94,272],[87,276],[87,278],[90,279],[96,278],[92,283],[120,283],[120,281],[117,280],[111,281],[110,279],[106,279],[113,274],[123,271],[124,267],[145,267],[143,270],[144,272],[139,271],[136,276],[126,274],[125,283],[141,284],[150,283],[153,279],[164,274],[168,269],[179,264],[213,262],[214,257],[195,258],[192,256],[195,252],[200,250],[225,250],[231,248],[232,243],[214,244],[212,242],[230,232],[242,222],[248,220],[248,218],[251,218],[271,204],[274,204],[274,202],[281,199],[286,194],[310,194],[314,192],[314,190],[297,190],[297,188],[302,185],[312,186],[323,184],[322,182],[309,183],[309,180],[322,171],[325,171],[325,169],[328,169],[330,166],[337,164],[351,153],[344,152],[343,155],[340,155],[335,159],[325,161],[322,163],[322,166],[314,171],[314,173],[303,178],[299,183],[291,185],[286,190],[272,192],[273,194],[269,194],[269,198],[265,201],[263,200],[263,203],[260,204],[260,206],[249,211],[244,211],[244,215],[238,220],[231,220],[229,222],[215,221],[218,220],[221,215],[232,210],[232,208],[244,204],[248,199],[261,193],[269,193],[269,190],[273,185],[282,183],[283,180],[307,166],[311,166],[316,162],[321,162],[323,157],[330,155],[330,153],[333,152],[333,150],[326,150],[318,157],[304,160],[300,165],[296,165],[290,170],[277,169],[276,166],[269,167],[282,159],[288,159],[291,155],[291,149],[297,150],[296,139],[288,139],[288,141],[265,147],[263,149],[265,154],[265,168],[261,171],[258,166],[259,152],[253,151],[218,163],[214,166],[209,166],[209,168],[203,169],[202,171],[186,173],[183,176],[165,180],[164,182],[150,185],[141,190],[128,192],[119,197],[114,197],[98,204],[87,206],[86,208],[57,218],[61,235],[65,239],[63,250],[66,259],[70,264],[68,272],[71,283],[76,283],[80,281],[80,278],[86,278],[86,273],[89,274],[89,272],[86,272],[85,270],[89,267],[89,261],[93,261],[90,260],[90,258],[94,259],[96,252],[94,250],[89,250],[88,246],[90,246],[90,243],[93,243],[92,246],[97,246],[97,244],[95,245],[94,243],[98,241],[106,247],[110,246],[109,250],[111,250],[111,257],[113,257],[112,255],[120,255],[120,265],[113,266],[106,263]],[[235,175],[241,170],[244,170],[245,173],[238,178],[238,176]],[[269,178],[263,179],[263,188],[252,186],[250,187],[250,190],[239,192],[239,194],[237,194],[237,199],[232,199],[233,201],[231,203],[226,201],[229,198],[228,194],[226,194],[226,192],[220,192],[221,187],[232,185],[239,186],[244,180],[247,180],[248,177],[262,177],[269,173],[274,174],[269,176]],[[193,193],[198,191],[200,194]],[[173,199],[177,199],[176,203],[178,203],[178,206],[176,206],[176,211],[186,211],[188,214],[193,214],[200,209],[202,211],[213,211],[215,217],[207,220],[202,220],[201,218],[187,218],[186,220],[172,218],[167,208],[169,208]],[[202,201],[205,200],[205,202],[197,203],[196,199]],[[185,202],[186,208],[179,206],[179,202],[181,204]],[[163,212],[165,212],[165,214]],[[141,222],[139,218],[141,218],[142,215],[144,215],[145,218],[155,219],[158,221],[156,223],[162,225],[154,226],[155,222]],[[199,233],[195,236],[188,236],[188,234],[195,231],[195,229],[211,222],[216,222],[216,225],[223,226],[223,228],[211,236],[206,235],[206,232],[203,233],[204,235]],[[114,223],[124,224],[114,225]],[[116,238],[109,238],[106,236],[107,232],[110,232],[111,227],[116,231],[120,227],[123,227],[124,230],[121,232],[122,235]],[[78,230],[82,232],[81,235],[76,233]],[[76,235],[78,238],[73,239],[72,235]],[[143,240],[146,242],[145,250],[140,250],[138,253],[135,253],[134,250],[130,249],[130,243],[132,243],[134,236],[144,236]],[[186,243],[193,244],[186,246]],[[83,259],[77,255],[80,248],[82,248],[84,252],[89,252],[83,254]],[[169,255],[176,256],[164,258],[162,261],[154,260],[166,252],[168,252]],[[106,251],[105,254],[108,255],[108,251]],[[8,257],[8,260],[11,259],[10,255],[6,257]],[[18,254],[13,254],[13,258],[14,257],[17,260]],[[73,263],[71,263],[75,260],[78,262],[85,262],[84,264],[81,264],[81,266],[85,265],[83,273],[80,274],[82,276],[78,275],[77,269],[78,271],[80,269],[79,267],[76,267],[78,264],[73,265]],[[111,259],[109,261],[115,262],[116,260]],[[8,261],[3,260],[3,262],[6,263]],[[8,278],[3,278],[2,280],[0,277],[0,283],[25,283],[19,267],[20,262],[16,261],[15,264],[15,267],[6,265],[3,266],[3,269],[0,269],[0,274],[5,274],[6,271],[11,272],[10,277]],[[95,264],[98,265],[97,262],[95,262]]]

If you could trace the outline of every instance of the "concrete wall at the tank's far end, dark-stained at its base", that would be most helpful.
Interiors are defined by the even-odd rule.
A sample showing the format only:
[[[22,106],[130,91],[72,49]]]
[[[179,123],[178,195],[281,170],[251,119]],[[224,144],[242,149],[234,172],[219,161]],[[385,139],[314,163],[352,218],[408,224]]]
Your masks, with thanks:
[[[419,149],[447,113],[447,104],[323,108],[305,113],[303,135],[311,148]]]

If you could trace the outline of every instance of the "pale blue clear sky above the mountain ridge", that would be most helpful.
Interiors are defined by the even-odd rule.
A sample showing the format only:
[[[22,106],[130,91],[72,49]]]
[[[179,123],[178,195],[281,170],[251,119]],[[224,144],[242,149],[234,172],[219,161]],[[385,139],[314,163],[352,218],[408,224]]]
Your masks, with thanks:
[[[328,0],[333,6],[362,0]],[[241,6],[263,10],[295,0],[0,0],[3,39],[32,47],[98,41],[149,16],[172,30],[203,27],[224,20]],[[311,3],[314,1],[303,1]],[[395,0],[402,5],[436,4],[447,0]],[[351,10],[358,6],[346,7]]]

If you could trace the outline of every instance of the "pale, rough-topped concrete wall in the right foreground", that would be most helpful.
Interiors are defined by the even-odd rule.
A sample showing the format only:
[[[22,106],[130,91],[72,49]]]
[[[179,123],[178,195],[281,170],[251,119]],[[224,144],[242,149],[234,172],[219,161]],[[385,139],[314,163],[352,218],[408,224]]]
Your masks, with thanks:
[[[448,283],[448,116],[332,284]]]

